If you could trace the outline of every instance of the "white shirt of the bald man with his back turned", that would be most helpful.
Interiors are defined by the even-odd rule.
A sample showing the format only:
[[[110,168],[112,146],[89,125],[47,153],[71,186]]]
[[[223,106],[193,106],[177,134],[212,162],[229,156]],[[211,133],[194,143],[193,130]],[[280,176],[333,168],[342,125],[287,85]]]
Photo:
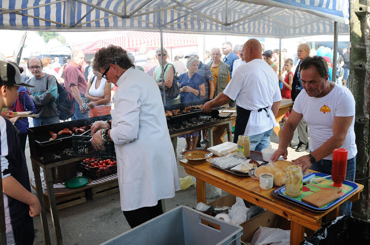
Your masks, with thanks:
[[[250,116],[244,134],[261,134],[278,126],[272,113],[274,102],[281,101],[279,79],[263,59],[253,59],[233,72],[224,94],[236,101],[236,105],[250,110]],[[258,109],[266,108],[258,112]]]

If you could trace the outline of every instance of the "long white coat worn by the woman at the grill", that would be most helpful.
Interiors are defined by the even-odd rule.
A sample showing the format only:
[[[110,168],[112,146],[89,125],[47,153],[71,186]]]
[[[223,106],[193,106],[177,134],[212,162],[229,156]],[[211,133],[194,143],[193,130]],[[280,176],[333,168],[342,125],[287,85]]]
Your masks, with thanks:
[[[122,211],[153,207],[180,190],[175,153],[154,79],[128,69],[117,81],[112,130]]]

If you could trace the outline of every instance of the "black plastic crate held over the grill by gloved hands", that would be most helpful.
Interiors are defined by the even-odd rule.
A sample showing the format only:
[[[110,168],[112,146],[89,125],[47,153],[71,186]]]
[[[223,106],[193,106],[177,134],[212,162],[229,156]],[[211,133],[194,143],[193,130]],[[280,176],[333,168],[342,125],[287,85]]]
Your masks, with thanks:
[[[112,141],[106,142],[103,150],[95,150],[91,145],[91,138],[92,136],[89,130],[83,134],[72,134],[72,147],[76,156],[107,158],[116,156],[114,143]]]

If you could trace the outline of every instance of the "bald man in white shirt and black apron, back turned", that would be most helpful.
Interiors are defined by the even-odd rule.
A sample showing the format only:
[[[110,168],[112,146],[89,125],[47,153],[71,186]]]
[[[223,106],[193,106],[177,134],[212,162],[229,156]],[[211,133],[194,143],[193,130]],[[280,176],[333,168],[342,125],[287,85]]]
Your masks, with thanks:
[[[248,135],[250,149],[261,151],[270,146],[272,129],[277,126],[275,115],[281,102],[279,80],[262,59],[262,47],[258,40],[249,39],[242,52],[246,64],[235,70],[224,92],[208,101],[203,110],[210,112],[230,99],[235,100],[234,142],[237,142],[239,135]]]

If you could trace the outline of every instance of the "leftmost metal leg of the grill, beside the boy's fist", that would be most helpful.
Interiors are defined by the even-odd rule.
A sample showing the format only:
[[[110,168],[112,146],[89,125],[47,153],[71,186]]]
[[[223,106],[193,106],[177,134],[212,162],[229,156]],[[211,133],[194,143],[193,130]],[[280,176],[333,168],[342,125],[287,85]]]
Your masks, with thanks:
[[[46,208],[45,208],[45,202],[44,202],[44,196],[43,196],[43,190],[41,185],[41,177],[40,177],[40,167],[32,162],[32,170],[35,178],[35,186],[36,186],[36,194],[39,198],[40,204],[41,204],[41,225],[43,228],[43,234],[44,234],[44,242],[45,244],[49,245],[50,242],[50,234],[49,234],[49,227],[47,223],[47,217],[46,217]]]

